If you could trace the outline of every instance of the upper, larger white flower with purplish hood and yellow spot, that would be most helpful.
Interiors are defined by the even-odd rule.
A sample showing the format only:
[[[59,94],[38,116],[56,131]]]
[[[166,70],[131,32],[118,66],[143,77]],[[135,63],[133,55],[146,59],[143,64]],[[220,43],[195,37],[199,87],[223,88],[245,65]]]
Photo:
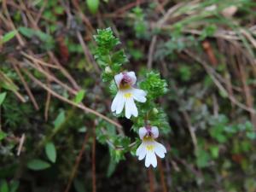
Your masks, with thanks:
[[[125,107],[125,117],[130,119],[131,115],[137,117],[137,107],[134,100],[137,102],[146,102],[146,92],[132,87],[136,83],[134,72],[119,73],[114,76],[115,83],[119,90],[113,98],[111,111],[117,114],[123,111]]]

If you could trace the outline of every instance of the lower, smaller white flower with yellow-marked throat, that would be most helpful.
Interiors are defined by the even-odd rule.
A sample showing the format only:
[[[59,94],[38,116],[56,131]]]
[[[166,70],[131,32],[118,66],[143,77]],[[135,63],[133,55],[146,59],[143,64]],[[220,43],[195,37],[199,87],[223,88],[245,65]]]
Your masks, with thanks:
[[[159,131],[156,126],[141,127],[139,129],[139,136],[143,140],[143,143],[137,148],[136,155],[138,160],[145,160],[145,166],[157,166],[156,155],[160,158],[164,158],[166,154],[166,148],[161,143],[154,141],[159,136]]]

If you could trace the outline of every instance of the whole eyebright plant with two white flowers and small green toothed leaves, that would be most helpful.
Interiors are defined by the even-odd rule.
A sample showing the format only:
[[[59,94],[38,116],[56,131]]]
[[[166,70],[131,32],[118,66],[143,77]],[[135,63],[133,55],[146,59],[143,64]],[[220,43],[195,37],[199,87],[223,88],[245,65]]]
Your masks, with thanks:
[[[95,58],[102,68],[102,80],[109,84],[110,92],[114,96],[111,111],[115,115],[131,119],[132,131],[138,132],[141,141],[137,139],[135,144],[130,143],[130,138],[118,136],[111,129],[104,133],[96,131],[97,139],[101,143],[102,140],[106,140],[110,154],[116,161],[124,159],[122,155],[125,152],[133,153],[134,146],[140,144],[135,153],[138,159],[145,158],[146,167],[156,167],[156,155],[160,158],[166,155],[164,145],[155,141],[159,137],[159,128],[163,133],[170,130],[166,122],[166,113],[156,103],[159,96],[166,94],[166,80],[160,79],[159,73],[151,71],[144,74],[142,82],[137,83],[136,74],[127,72],[123,67],[128,60],[124,50],[118,49],[120,41],[113,36],[111,28],[97,30],[94,38],[97,44]],[[115,143],[119,145],[115,146]]]

